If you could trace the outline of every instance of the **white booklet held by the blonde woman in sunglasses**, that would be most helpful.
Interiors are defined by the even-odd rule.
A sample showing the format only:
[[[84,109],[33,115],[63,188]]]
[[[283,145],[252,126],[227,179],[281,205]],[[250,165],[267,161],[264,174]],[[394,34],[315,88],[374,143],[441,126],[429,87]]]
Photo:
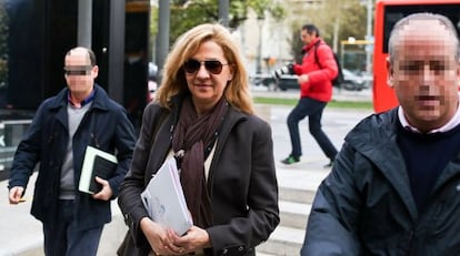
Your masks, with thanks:
[[[176,158],[172,156],[150,180],[141,193],[141,199],[156,223],[173,229],[178,235],[183,235],[193,225],[180,184]]]

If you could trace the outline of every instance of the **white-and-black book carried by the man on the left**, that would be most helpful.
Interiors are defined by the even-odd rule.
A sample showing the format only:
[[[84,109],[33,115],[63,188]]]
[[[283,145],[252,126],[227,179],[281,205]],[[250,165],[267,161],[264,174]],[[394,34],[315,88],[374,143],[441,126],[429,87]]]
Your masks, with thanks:
[[[108,180],[117,170],[117,156],[88,146],[81,167],[78,190],[88,194],[96,194],[102,190],[102,185],[96,181],[96,176]]]

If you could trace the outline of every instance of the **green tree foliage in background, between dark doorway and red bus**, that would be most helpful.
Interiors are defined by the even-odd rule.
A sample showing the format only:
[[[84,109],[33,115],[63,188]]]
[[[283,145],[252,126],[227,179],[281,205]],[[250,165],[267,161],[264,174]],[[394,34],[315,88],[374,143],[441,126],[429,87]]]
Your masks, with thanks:
[[[373,0],[374,1],[374,0]],[[321,38],[333,45],[348,37],[363,39],[366,34],[367,8],[360,0],[322,0],[318,2],[289,4],[280,0],[230,0],[229,27],[238,28],[248,18],[249,10],[258,18],[270,16],[276,21],[291,20],[292,34],[287,40],[291,45],[290,53],[297,62],[301,61],[300,28],[304,23],[314,23],[320,29]],[[288,3],[288,4],[287,4]],[[171,0],[170,1],[170,38],[176,39],[188,29],[204,22],[218,22],[218,0]],[[289,16],[287,16],[289,13]],[[158,9],[152,8],[151,32],[157,34]],[[334,28],[337,34],[334,34]],[[154,38],[154,37],[152,37]],[[340,55],[340,52],[338,52]]]

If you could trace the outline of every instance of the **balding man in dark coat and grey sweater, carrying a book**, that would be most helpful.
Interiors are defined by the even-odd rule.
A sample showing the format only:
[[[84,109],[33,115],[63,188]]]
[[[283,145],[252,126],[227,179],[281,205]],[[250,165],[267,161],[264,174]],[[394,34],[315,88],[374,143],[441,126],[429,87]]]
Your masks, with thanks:
[[[67,88],[46,100],[14,155],[9,201],[18,204],[40,163],[31,214],[43,223],[46,255],[96,255],[103,225],[134,147],[133,126],[124,109],[94,83],[94,53],[74,48],[66,54]],[[108,178],[96,177],[96,194],[78,190],[87,146],[116,154]]]

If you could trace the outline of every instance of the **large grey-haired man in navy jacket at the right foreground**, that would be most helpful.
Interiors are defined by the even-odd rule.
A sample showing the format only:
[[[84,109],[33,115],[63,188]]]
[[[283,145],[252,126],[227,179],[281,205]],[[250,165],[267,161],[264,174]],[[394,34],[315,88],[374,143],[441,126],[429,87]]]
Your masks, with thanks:
[[[416,13],[394,25],[388,70],[400,106],[347,135],[314,198],[302,256],[459,255],[459,54],[446,17]]]

